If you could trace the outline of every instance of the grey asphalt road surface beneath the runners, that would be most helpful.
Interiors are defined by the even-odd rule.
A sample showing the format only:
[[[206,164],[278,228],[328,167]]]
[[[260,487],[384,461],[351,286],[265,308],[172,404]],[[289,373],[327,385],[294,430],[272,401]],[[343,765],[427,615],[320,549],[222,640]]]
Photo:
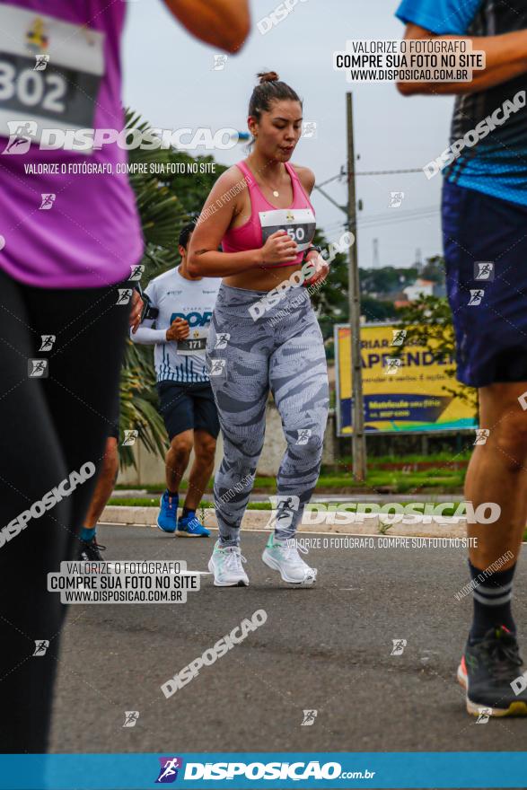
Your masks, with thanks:
[[[213,547],[145,527],[103,527],[99,540],[109,560],[185,559],[201,571]],[[525,749],[524,720],[476,724],[455,681],[471,608],[453,597],[468,581],[463,549],[313,548],[319,581],[295,589],[261,562],[266,540],[243,536],[248,588],[218,589],[204,575],[186,603],[70,607],[52,751]],[[526,574],[523,564],[515,612],[527,635]],[[263,626],[162,695],[260,609]],[[407,641],[400,655],[394,639]],[[304,709],[317,710],[314,724],[301,725]],[[129,710],[139,718],[123,727]]]

